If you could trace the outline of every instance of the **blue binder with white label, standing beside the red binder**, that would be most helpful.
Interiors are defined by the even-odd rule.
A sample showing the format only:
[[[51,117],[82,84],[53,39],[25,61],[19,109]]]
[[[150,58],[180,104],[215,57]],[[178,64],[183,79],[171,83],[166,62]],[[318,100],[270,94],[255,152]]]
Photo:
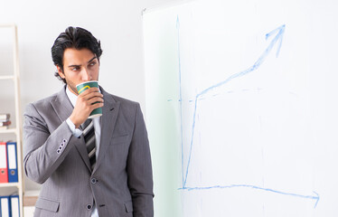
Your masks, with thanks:
[[[16,142],[7,142],[8,183],[17,183]]]

